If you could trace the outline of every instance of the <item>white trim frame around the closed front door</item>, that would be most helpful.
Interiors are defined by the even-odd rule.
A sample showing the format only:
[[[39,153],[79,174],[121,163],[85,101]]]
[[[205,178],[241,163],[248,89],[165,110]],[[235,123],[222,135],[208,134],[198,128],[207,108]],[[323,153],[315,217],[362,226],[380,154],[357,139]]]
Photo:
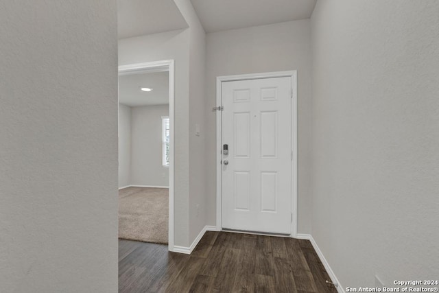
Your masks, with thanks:
[[[230,82],[237,80],[257,80],[260,78],[282,78],[289,77],[292,79],[292,103],[291,119],[292,129],[292,152],[293,160],[291,164],[292,170],[292,231],[290,237],[297,235],[297,71],[278,71],[268,73],[252,73],[242,75],[228,75],[217,77],[217,106],[222,106],[222,82]],[[222,120],[221,111],[217,110],[217,230],[222,231]]]

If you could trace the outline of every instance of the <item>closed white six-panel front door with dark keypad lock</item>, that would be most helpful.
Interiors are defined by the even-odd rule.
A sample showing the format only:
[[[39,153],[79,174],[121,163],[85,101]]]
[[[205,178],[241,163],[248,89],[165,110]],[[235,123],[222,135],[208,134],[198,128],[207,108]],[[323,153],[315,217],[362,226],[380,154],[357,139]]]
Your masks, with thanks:
[[[222,106],[222,227],[290,234],[292,78],[222,82]]]

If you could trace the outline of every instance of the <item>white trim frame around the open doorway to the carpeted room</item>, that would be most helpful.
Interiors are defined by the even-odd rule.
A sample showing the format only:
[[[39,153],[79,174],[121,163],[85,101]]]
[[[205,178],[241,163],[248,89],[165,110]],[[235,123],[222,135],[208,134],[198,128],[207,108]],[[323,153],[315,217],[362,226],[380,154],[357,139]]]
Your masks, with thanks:
[[[156,62],[135,63],[119,66],[119,75],[133,73],[149,73],[169,71],[169,230],[168,250],[174,250],[174,105],[175,105],[175,81],[174,60],[162,60]]]

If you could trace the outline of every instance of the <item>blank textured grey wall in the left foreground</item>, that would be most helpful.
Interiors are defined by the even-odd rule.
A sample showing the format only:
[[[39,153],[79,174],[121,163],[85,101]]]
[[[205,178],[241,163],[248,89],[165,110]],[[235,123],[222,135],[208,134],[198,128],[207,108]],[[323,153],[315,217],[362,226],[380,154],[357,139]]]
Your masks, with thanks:
[[[0,292],[117,292],[116,1],[0,2]]]

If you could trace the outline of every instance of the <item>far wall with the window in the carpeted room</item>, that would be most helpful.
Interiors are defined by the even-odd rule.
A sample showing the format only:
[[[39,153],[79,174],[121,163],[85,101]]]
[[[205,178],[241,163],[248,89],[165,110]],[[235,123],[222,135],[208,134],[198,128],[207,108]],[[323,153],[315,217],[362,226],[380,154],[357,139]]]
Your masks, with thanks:
[[[130,185],[169,186],[169,167],[162,165],[162,117],[169,105],[131,109]]]

